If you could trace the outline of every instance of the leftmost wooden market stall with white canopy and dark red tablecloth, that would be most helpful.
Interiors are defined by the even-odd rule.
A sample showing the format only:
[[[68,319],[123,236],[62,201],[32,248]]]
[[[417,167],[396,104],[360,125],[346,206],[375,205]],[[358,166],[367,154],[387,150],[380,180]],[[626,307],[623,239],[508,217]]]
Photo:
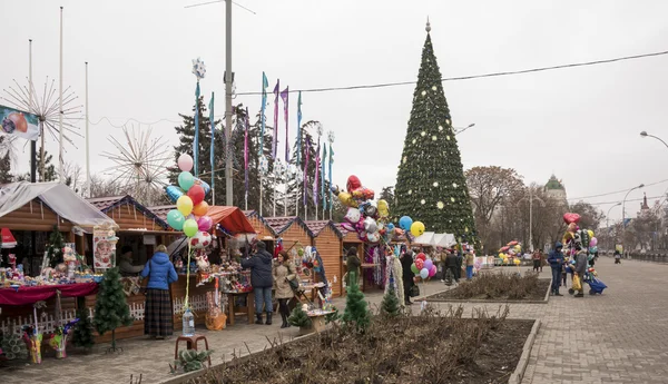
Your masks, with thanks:
[[[78,253],[85,249],[85,233],[97,225],[116,227],[114,219],[59,183],[13,183],[0,187],[0,226],[13,230],[18,248],[12,249],[20,259],[27,256],[32,275],[40,273],[49,233],[57,226],[66,243],[75,243]],[[29,234],[31,232],[32,234]],[[18,236],[21,235],[21,236]],[[35,235],[35,237],[29,238]],[[32,247],[20,247],[21,243],[33,243]],[[24,253],[21,255],[20,253]],[[97,291],[95,283],[40,286],[0,286],[0,328],[17,332],[32,325],[32,301],[46,297],[47,307],[38,311],[39,326],[45,333],[53,332],[59,319],[73,318],[84,296]],[[59,297],[62,297],[58,299]],[[59,303],[58,303],[59,302]],[[57,304],[58,303],[58,304]],[[57,308],[60,311],[57,311]]]

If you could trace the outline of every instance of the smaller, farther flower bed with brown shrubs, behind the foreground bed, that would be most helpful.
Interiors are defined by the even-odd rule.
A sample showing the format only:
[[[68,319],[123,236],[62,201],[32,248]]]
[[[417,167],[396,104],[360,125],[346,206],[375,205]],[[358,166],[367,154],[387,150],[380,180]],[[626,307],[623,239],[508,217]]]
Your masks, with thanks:
[[[428,302],[449,301],[498,301],[498,302],[543,302],[550,279],[539,279],[536,274],[480,275],[471,282],[462,282],[455,288],[428,296]]]

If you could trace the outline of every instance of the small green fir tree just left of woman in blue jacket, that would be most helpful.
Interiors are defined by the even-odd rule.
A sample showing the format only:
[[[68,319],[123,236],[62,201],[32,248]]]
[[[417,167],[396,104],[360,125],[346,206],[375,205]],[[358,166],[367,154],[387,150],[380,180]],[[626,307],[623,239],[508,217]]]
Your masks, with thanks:
[[[132,316],[130,316],[130,308],[126,302],[117,267],[107,269],[100,283],[92,324],[100,335],[111,331],[110,352],[116,351],[116,328],[132,324]]]

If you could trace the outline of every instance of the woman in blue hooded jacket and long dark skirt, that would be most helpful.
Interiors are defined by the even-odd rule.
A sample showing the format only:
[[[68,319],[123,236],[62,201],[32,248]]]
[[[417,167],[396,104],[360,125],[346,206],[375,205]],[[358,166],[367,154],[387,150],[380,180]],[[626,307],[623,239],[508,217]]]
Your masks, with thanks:
[[[166,252],[167,247],[159,245],[156,254],[141,270],[141,277],[148,277],[144,304],[144,334],[155,338],[165,338],[174,333],[169,284],[176,282],[178,275]]]

